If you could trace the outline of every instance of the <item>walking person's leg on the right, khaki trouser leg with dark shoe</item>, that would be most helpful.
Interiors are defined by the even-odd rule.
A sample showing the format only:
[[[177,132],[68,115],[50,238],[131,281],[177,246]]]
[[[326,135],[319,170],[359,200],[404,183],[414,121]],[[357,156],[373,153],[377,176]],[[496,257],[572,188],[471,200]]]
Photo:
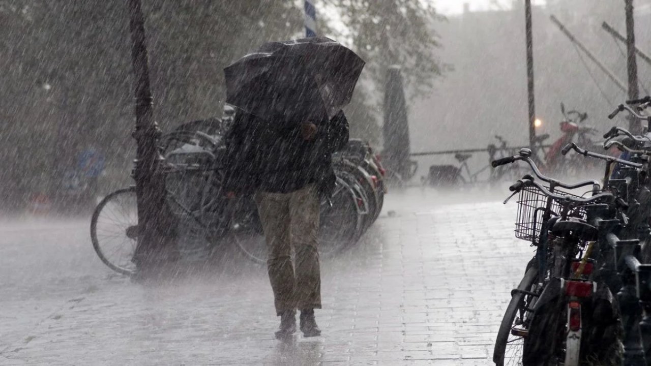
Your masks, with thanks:
[[[321,274],[318,240],[320,203],[316,186],[310,184],[291,193],[290,235],[296,251],[296,306],[301,309],[301,331],[306,337],[320,335],[314,309],[321,309]]]

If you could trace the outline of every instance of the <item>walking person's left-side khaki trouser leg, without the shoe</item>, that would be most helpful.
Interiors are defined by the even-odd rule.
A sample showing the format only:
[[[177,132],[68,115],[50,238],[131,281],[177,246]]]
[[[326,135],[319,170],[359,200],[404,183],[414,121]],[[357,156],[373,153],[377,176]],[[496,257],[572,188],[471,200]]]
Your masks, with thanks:
[[[276,314],[295,311],[294,266],[290,244],[289,195],[258,192],[255,195],[258,214],[267,243],[267,269],[273,289]]]

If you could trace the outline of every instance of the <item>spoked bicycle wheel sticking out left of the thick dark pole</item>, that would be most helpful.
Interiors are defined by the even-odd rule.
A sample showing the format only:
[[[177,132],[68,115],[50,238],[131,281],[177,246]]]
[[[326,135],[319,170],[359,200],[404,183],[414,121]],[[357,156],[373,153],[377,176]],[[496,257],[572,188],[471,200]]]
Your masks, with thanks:
[[[100,260],[120,274],[135,271],[138,210],[135,187],[110,193],[97,205],[90,220],[90,239]]]

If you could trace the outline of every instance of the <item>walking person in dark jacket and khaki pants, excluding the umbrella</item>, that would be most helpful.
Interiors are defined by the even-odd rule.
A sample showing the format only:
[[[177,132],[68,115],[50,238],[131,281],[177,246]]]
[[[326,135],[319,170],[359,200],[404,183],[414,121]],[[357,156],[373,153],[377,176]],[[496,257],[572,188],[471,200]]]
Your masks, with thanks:
[[[314,317],[314,309],[322,306],[320,203],[335,188],[332,154],[346,146],[348,130],[341,111],[332,119],[306,113],[262,120],[238,110],[227,134],[227,189],[253,193],[264,230],[274,305],[281,317],[277,339],[295,333],[297,309],[303,336],[321,334]]]

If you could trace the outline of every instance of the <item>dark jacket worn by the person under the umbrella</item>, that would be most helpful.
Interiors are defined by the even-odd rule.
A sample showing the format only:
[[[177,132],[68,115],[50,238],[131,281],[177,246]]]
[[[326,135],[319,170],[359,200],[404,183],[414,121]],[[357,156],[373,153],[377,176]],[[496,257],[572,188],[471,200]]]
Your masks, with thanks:
[[[238,111],[225,139],[227,190],[288,193],[316,183],[321,198],[330,197],[336,181],[332,154],[348,143],[348,120],[340,112],[316,124],[316,137],[305,141],[296,122]]]

